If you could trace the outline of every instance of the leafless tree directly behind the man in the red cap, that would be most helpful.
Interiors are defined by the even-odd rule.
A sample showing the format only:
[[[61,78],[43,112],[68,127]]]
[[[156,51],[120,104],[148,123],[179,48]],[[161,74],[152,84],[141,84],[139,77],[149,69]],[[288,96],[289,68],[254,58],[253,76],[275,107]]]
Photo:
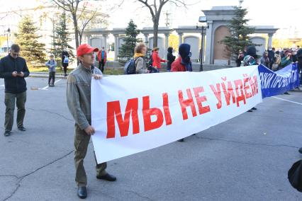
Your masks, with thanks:
[[[89,23],[100,22],[99,17],[106,15],[99,13],[97,6],[91,9],[88,1],[84,0],[51,0],[54,4],[70,13],[74,25],[74,39],[76,48],[79,47],[82,40],[84,29]],[[83,1],[83,4],[79,5]],[[80,26],[81,25],[81,26]]]

